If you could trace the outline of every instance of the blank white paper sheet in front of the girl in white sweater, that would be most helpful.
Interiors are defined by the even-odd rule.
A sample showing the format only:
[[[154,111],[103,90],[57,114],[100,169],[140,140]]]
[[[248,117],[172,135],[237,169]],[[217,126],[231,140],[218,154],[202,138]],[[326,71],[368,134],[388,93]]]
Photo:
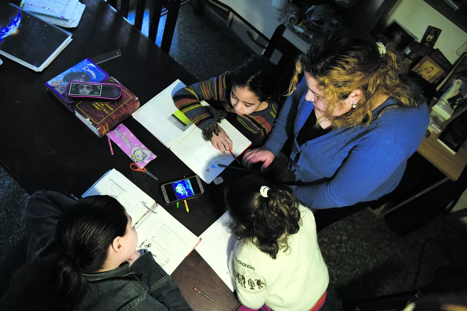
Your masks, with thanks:
[[[199,236],[203,240],[196,247],[196,251],[233,291],[233,279],[230,276],[228,261],[237,239],[228,231],[228,221],[230,216],[225,212]]]

